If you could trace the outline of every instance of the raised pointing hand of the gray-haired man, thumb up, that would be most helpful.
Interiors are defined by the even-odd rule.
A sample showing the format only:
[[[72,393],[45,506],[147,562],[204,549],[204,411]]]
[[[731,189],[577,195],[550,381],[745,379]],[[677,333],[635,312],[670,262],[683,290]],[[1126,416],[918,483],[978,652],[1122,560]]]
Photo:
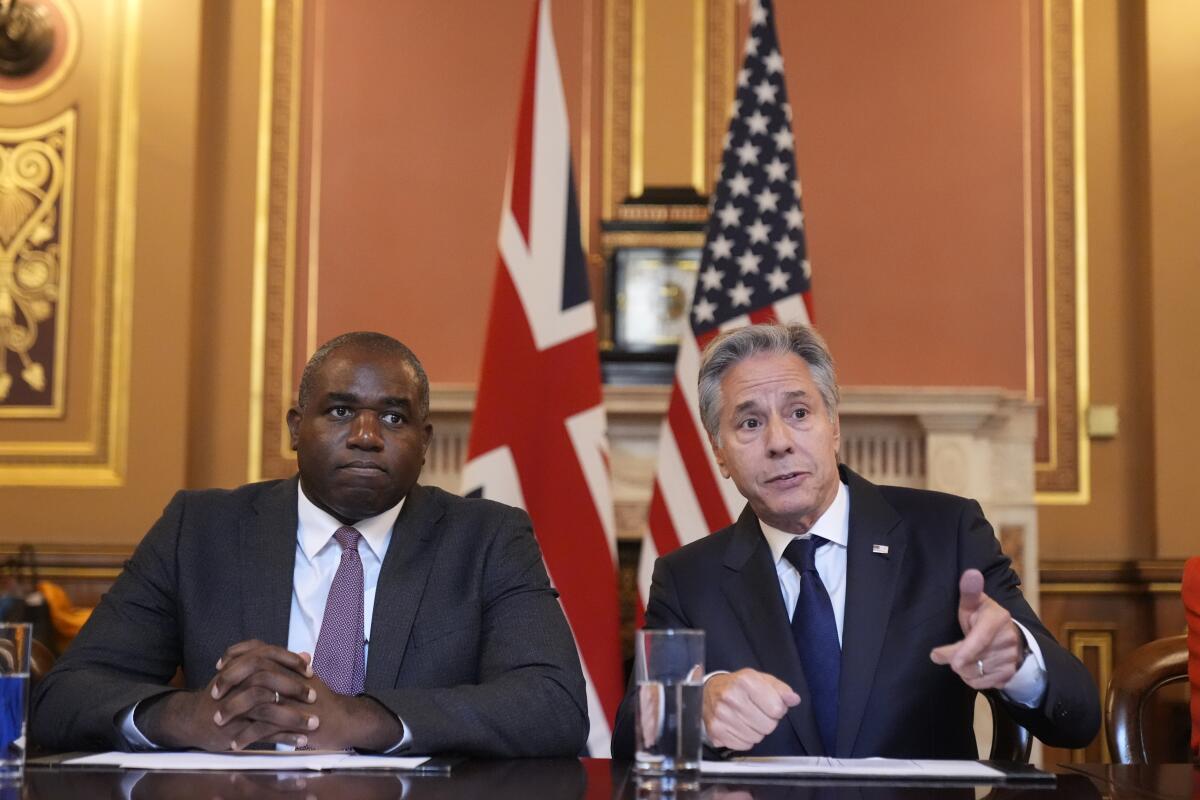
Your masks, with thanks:
[[[984,590],[983,573],[967,570],[959,579],[959,626],[962,638],[934,648],[934,663],[948,664],[976,690],[1003,688],[1021,666],[1024,633],[1003,606]]]

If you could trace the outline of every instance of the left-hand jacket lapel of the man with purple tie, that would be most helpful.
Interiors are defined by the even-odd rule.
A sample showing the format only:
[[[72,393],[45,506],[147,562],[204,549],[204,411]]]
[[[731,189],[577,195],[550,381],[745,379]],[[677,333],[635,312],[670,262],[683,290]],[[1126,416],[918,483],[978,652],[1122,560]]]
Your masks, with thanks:
[[[254,501],[254,516],[241,522],[242,636],[288,645],[292,582],[296,560],[299,479],[280,481]],[[216,565],[212,569],[217,569]]]

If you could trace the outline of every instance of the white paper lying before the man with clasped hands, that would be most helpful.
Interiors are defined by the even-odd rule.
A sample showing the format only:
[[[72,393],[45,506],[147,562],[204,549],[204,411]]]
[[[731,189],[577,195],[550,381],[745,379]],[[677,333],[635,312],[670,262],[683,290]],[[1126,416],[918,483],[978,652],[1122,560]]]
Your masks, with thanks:
[[[306,753],[304,751],[253,753],[94,753],[62,763],[71,766],[119,766],[128,770],[413,770],[427,756],[359,756],[355,753]]]

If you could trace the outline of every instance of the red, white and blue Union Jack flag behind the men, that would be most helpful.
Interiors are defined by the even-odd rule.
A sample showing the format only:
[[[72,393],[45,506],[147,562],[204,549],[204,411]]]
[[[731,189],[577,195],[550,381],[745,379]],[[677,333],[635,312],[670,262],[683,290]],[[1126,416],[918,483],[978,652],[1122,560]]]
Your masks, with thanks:
[[[595,309],[580,240],[548,0],[534,11],[500,215],[463,494],[524,509],[588,682],[588,750],[608,754],[620,674],[616,522]]]

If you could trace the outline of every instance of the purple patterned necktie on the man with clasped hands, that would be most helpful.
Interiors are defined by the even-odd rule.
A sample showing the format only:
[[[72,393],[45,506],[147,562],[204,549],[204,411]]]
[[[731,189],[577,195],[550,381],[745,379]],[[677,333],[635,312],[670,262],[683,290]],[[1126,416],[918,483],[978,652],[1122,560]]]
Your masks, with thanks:
[[[338,528],[334,539],[342,547],[342,560],[334,573],[325,600],[325,615],[320,621],[312,669],[338,694],[361,694],[366,660],[362,646],[362,559],[354,528]]]

